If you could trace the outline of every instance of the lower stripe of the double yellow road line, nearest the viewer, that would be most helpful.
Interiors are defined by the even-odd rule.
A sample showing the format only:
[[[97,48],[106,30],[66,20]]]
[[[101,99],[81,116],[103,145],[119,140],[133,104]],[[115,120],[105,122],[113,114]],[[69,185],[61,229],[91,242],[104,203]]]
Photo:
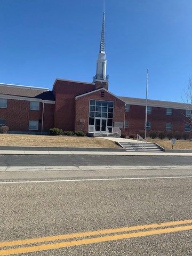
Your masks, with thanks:
[[[103,237],[97,237],[97,238],[82,239],[82,240],[77,240],[77,241],[60,242],[60,243],[55,243],[55,244],[44,244],[44,245],[31,246],[31,247],[21,247],[21,248],[17,248],[17,249],[2,250],[2,251],[0,251],[0,255],[12,255],[12,254],[18,254],[18,253],[46,251],[46,250],[59,249],[61,247],[109,242],[109,241],[115,241],[115,240],[126,239],[126,238],[141,237],[141,236],[167,234],[167,233],[173,233],[173,232],[190,230],[190,229],[192,229],[192,225],[180,226],[180,227],[174,227],[174,228],[147,230],[147,231],[141,231],[138,233],[130,233],[130,234],[103,236]]]

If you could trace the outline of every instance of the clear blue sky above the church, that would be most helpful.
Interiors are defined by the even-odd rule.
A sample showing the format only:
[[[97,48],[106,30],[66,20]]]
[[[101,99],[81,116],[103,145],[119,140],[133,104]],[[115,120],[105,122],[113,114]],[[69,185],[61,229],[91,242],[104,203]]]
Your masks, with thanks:
[[[102,0],[0,0],[0,83],[92,82]],[[183,102],[192,75],[191,0],[106,0],[109,91]]]

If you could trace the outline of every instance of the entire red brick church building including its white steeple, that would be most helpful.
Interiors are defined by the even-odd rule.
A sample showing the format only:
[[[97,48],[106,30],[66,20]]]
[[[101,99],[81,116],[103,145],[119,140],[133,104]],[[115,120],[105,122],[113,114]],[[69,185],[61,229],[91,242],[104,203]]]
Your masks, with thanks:
[[[146,100],[108,91],[103,12],[97,74],[92,83],[56,79],[53,89],[0,84],[0,126],[12,133],[47,134],[57,127],[86,134],[137,134],[145,129]],[[191,105],[148,100],[147,130],[190,132]]]

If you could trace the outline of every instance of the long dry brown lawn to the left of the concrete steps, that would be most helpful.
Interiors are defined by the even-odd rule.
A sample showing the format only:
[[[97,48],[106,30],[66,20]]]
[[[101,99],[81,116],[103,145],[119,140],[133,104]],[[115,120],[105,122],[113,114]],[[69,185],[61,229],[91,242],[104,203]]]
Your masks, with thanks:
[[[103,147],[119,148],[114,141],[70,136],[49,136],[29,134],[0,134],[1,146],[44,146],[44,147]]]

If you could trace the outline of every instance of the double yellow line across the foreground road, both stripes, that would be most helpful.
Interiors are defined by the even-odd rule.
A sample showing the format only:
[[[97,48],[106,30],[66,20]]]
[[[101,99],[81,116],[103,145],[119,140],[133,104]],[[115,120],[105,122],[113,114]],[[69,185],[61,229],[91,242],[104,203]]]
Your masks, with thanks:
[[[10,242],[0,242],[0,249],[1,249],[0,255],[30,253],[30,252],[37,252],[37,251],[53,250],[53,249],[58,249],[62,247],[69,247],[69,246],[76,246],[76,245],[115,241],[115,240],[132,238],[132,237],[173,233],[173,232],[192,229],[192,225],[189,225],[190,223],[192,223],[192,220],[172,221],[172,222],[154,223],[149,225],[141,225],[141,226],[133,226],[133,227],[89,231],[84,233],[74,233],[74,234],[66,234],[66,235],[59,235],[59,236],[47,236],[47,237],[39,237],[39,238],[32,238],[32,239],[25,239],[25,240],[18,240],[18,241],[10,241]],[[130,231],[138,231],[138,232],[125,233]],[[92,237],[92,238],[85,239],[85,237]],[[84,238],[84,239],[77,239],[77,238]],[[73,240],[70,240],[70,239],[73,239]],[[60,241],[69,240],[69,241],[55,242],[58,240]],[[48,243],[48,242],[52,242],[52,243]],[[46,243],[46,244],[43,244],[43,243]],[[39,244],[39,245],[28,246],[30,244],[31,245]],[[24,245],[24,246],[21,247],[21,245]],[[5,247],[14,247],[14,246],[20,246],[20,247],[5,249]]]

